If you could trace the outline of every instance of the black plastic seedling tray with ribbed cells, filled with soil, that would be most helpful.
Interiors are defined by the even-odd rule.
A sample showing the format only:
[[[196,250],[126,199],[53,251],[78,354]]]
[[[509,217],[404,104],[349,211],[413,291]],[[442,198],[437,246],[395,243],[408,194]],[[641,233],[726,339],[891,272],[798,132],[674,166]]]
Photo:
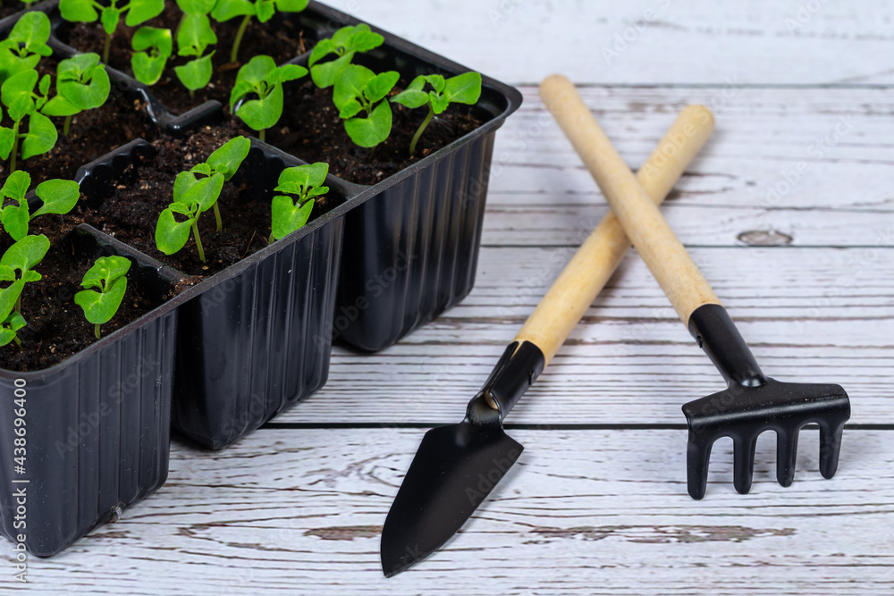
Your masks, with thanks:
[[[54,3],[41,9],[52,15]],[[317,38],[359,22],[315,2],[293,18],[315,29]],[[54,32],[60,26],[56,17]],[[358,58],[367,66],[397,70],[408,79],[468,71],[373,29],[385,44]],[[57,55],[76,53],[57,38],[50,43]],[[307,59],[302,55],[293,62]],[[151,88],[109,72],[113,93],[143,99],[152,121],[169,134],[223,121],[217,102],[177,116]],[[26,474],[33,491],[29,550],[51,555],[164,483],[169,424],[207,447],[222,448],[322,387],[333,340],[366,350],[386,348],[464,298],[475,280],[494,136],[520,103],[516,89],[484,77],[479,105],[490,119],[464,138],[373,186],[330,176],[336,206],[289,238],[59,365],[29,374],[0,370],[4,396],[12,398],[23,379],[33,405],[27,408],[29,444],[35,449]],[[116,173],[152,150],[134,139],[81,168],[77,180],[85,197],[103,200]],[[252,139],[240,169],[246,192],[269,200],[279,172],[304,163],[301,157]],[[183,277],[89,226],[80,226],[78,233],[95,239],[105,252],[131,258],[139,282],[170,284]],[[157,364],[147,372],[140,363],[149,352]],[[65,444],[82,418],[94,420],[92,412],[106,411],[105,396],[134,374],[137,387],[111,414],[100,416],[94,432],[72,438],[72,449],[58,455],[54,446]],[[13,541],[17,505],[9,487],[15,487],[15,424],[13,408],[4,407],[0,481],[6,488],[0,491],[0,515],[3,532]]]

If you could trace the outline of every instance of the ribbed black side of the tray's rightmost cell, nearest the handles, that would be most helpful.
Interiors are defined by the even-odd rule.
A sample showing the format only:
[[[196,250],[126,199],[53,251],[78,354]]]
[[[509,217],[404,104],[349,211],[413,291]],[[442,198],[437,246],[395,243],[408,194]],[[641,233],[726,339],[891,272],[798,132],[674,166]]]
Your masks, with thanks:
[[[345,215],[336,337],[375,351],[468,296],[495,130]]]

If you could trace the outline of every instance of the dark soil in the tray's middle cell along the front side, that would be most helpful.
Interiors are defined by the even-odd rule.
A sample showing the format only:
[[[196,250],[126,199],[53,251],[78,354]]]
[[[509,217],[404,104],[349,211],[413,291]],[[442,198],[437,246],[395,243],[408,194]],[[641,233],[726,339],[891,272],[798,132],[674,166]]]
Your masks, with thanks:
[[[198,220],[199,236],[205,249],[207,263],[198,257],[195,239],[190,240],[180,252],[167,256],[156,248],[155,231],[158,215],[171,204],[173,180],[179,172],[204,162],[207,156],[232,137],[239,136],[234,127],[205,127],[188,139],[156,140],[154,157],[139,160],[136,167],[129,166],[115,180],[114,195],[91,211],[86,202],[79,205],[80,216],[105,233],[125,244],[172,266],[190,277],[182,281],[178,291],[195,285],[204,278],[219,273],[246,256],[267,247],[270,237],[270,202],[247,191],[244,177],[252,177],[249,159],[240,173],[223,184],[218,199],[223,230],[217,231],[215,214],[208,210]],[[275,180],[264,183],[275,185]],[[332,208],[328,197],[317,199],[311,219]],[[178,216],[178,221],[182,217]]]

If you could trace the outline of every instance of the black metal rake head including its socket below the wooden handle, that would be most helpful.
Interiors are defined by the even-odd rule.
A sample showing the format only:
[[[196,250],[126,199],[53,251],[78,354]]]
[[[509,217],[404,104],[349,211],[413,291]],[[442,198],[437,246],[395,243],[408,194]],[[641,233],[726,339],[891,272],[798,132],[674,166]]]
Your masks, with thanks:
[[[795,479],[797,435],[805,424],[820,427],[820,472],[838,468],[841,435],[850,418],[848,394],[839,385],[779,382],[765,377],[745,340],[720,305],[704,305],[689,318],[689,331],[729,383],[722,390],[683,406],[689,427],[687,484],[693,499],[702,499],[708,482],[708,459],[714,441],[733,441],[733,483],[751,490],[757,437],[776,432],[776,478],[782,486]]]

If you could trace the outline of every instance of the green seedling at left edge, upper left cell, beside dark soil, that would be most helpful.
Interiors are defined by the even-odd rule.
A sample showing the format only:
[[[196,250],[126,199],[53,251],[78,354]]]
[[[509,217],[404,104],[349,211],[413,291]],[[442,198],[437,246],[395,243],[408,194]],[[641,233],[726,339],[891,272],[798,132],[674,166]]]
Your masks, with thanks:
[[[50,88],[50,76],[44,75],[38,87],[38,71],[20,72],[4,80],[0,86],[0,102],[13,121],[13,128],[0,127],[0,158],[10,160],[10,172],[15,172],[16,157],[21,140],[21,158],[41,155],[55,147],[58,133],[40,109],[46,105]],[[2,113],[0,113],[2,115]],[[22,122],[28,116],[28,131],[22,132]]]

